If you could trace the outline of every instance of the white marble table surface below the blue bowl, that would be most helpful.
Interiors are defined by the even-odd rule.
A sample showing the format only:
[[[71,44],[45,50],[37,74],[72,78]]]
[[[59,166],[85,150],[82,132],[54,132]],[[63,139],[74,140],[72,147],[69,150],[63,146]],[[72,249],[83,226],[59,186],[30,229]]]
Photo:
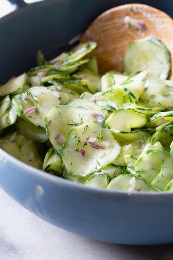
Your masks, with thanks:
[[[80,237],[41,220],[0,189],[0,259],[172,260],[173,245],[118,245]]]

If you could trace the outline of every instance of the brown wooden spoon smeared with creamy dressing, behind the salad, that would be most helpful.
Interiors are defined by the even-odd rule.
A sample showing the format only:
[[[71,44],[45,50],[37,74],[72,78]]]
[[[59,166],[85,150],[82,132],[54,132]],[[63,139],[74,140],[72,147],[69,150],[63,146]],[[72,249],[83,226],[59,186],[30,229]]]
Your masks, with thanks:
[[[144,23],[146,29],[128,27],[125,17]],[[80,42],[94,40],[99,73],[109,70],[122,71],[127,46],[133,40],[154,35],[166,45],[173,60],[173,20],[166,13],[143,4],[127,4],[112,8],[100,16],[86,29]],[[171,65],[173,71],[173,64]],[[173,76],[170,76],[173,79]]]

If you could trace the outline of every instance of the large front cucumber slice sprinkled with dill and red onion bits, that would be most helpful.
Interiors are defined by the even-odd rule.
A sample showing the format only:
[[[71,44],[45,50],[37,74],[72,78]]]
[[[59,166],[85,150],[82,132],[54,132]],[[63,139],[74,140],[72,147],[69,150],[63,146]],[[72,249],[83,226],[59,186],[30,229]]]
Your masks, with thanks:
[[[96,142],[87,144],[89,137],[96,138]],[[112,163],[120,151],[121,147],[105,125],[89,122],[69,131],[61,157],[70,175],[84,177]]]

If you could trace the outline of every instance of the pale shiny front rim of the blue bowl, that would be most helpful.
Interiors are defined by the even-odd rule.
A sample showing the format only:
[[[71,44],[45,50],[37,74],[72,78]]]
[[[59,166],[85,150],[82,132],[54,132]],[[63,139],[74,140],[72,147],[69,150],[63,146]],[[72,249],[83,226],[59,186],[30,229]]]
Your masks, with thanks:
[[[67,179],[63,179],[61,177],[58,177],[56,175],[50,174],[48,172],[44,172],[43,170],[39,170],[37,168],[34,168],[33,166],[30,166],[28,164],[25,164],[24,162],[16,159],[14,156],[10,155],[9,153],[5,152],[3,149],[0,148],[0,155],[2,155],[0,163],[6,163],[6,160],[9,160],[10,163],[14,164],[18,168],[22,169],[25,172],[31,172],[31,174],[37,175],[41,178],[48,179],[49,181],[53,181],[54,183],[57,183],[58,185],[63,185],[66,187],[74,187],[78,190],[85,191],[85,192],[93,192],[95,194],[100,194],[100,195],[125,195],[125,196],[151,196],[151,197],[167,197],[167,196],[173,196],[173,192],[155,192],[155,191],[133,191],[133,192],[127,192],[127,191],[121,191],[121,190],[107,190],[103,188],[98,188],[98,187],[89,187],[85,186],[82,183],[76,183]],[[5,159],[5,162],[3,160]]]

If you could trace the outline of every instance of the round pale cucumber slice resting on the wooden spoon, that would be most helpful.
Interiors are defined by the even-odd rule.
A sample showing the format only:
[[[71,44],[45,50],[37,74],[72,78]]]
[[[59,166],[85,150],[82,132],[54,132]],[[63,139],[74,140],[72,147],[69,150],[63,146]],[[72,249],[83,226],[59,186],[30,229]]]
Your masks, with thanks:
[[[165,45],[155,36],[148,36],[131,42],[125,53],[124,71],[131,74],[138,70],[160,79],[170,75],[170,53]]]

